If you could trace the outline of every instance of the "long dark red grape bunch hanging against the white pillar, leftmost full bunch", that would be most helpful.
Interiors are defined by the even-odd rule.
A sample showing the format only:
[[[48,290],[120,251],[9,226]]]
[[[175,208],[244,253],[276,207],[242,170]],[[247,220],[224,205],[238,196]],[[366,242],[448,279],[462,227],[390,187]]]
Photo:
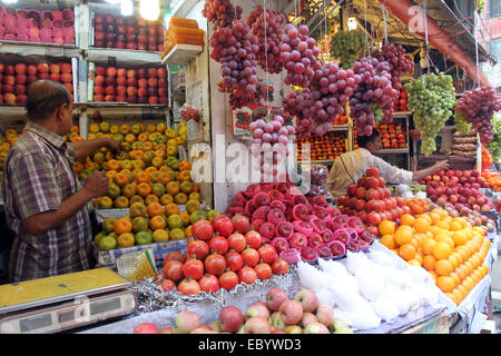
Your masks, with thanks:
[[[257,79],[257,37],[242,20],[220,27],[210,37],[210,58],[222,65],[220,92],[229,93],[232,109],[256,103],[261,98]]]

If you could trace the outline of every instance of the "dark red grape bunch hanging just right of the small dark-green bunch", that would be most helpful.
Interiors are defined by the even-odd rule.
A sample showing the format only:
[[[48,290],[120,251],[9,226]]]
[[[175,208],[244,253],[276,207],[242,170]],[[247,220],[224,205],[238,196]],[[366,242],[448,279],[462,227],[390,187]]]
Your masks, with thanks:
[[[380,62],[389,62],[390,75],[392,75],[392,87],[400,95],[400,90],[402,89],[401,77],[411,73],[414,69],[414,62],[405,56],[405,49],[400,44],[386,43],[381,47],[381,50],[374,51],[371,57],[377,58]]]

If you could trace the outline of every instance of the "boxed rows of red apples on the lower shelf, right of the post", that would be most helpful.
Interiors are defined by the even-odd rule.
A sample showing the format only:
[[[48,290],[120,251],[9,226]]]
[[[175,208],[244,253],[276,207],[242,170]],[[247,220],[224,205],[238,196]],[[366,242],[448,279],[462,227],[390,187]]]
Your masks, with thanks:
[[[96,67],[94,101],[168,105],[167,69]]]

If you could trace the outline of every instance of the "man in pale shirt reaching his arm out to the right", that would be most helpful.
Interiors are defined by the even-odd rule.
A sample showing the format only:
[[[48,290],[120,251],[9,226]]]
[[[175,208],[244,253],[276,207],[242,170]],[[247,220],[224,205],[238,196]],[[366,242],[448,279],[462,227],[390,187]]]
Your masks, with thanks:
[[[433,166],[409,171],[390,165],[376,155],[381,149],[380,132],[373,130],[371,136],[358,136],[358,148],[343,154],[334,160],[334,165],[327,176],[327,186],[332,191],[333,199],[346,195],[347,187],[356,185],[369,167],[375,167],[389,184],[410,185],[420,181],[424,177],[433,175],[439,170],[449,168],[448,160],[441,160]]]

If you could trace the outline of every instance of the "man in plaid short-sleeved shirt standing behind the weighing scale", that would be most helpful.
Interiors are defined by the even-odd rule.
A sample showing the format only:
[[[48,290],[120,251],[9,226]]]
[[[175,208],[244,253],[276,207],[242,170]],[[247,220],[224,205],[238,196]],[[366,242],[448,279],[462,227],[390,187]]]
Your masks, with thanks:
[[[28,121],[4,164],[7,224],[14,233],[10,280],[20,281],[90,268],[91,226],[87,204],[108,190],[108,178],[90,176],[84,187],[73,172],[75,159],[106,147],[111,139],[66,144],[72,125],[72,98],[51,80],[27,90]]]

